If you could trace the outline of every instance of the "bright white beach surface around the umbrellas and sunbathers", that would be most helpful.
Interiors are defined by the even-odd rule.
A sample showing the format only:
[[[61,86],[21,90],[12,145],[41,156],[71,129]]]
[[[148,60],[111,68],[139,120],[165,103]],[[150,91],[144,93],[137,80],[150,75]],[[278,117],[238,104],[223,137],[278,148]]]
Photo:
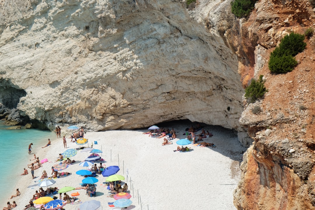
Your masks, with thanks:
[[[128,169],[129,177],[128,181],[125,181],[132,195],[130,200],[133,201],[128,209],[138,210],[141,209],[141,205],[142,209],[177,209],[179,207],[182,210],[236,209],[233,206],[232,192],[240,179],[239,162],[246,148],[240,145],[232,131],[206,126],[205,130],[209,130],[213,137],[206,138],[205,141],[214,143],[216,148],[189,145],[191,147],[189,152],[174,152],[173,150],[177,147],[176,140],[185,138],[182,134],[190,125],[168,125],[168,128],[175,128],[178,138],[172,140],[173,144],[165,146],[161,145],[162,139],[142,134],[147,131],[146,129],[87,132],[84,137],[89,139],[89,146],[91,142],[98,142],[97,145],[93,145],[93,148],[103,150],[101,157],[106,161],[103,164],[119,165],[118,174],[125,178],[127,178]],[[199,133],[200,131],[197,132]],[[67,146],[67,149],[78,148],[78,145],[70,143],[69,139],[67,139]],[[13,200],[16,201],[18,207],[15,209],[23,209],[35,190],[39,189],[36,184],[43,170],[50,175],[51,167],[55,164],[58,154],[65,151],[62,138],[54,139],[52,145],[44,149],[37,148],[37,151],[39,151],[37,152],[39,159],[47,158],[48,162],[44,163],[42,168],[35,170],[37,178],[34,180],[31,179],[30,173],[16,180],[16,188],[20,189],[21,196],[9,200],[11,203]],[[65,170],[71,175],[55,179],[56,183],[52,187],[59,189],[64,186],[78,187],[83,178],[75,172],[85,169],[80,167],[79,163],[89,155],[88,152],[78,151],[77,155],[71,158],[77,162]],[[103,184],[106,178],[102,175],[96,178],[99,179],[96,183],[96,197],[91,198],[85,195],[85,190],[73,192],[79,192],[80,195],[77,197],[83,202],[95,199],[101,202],[103,209],[110,209],[108,202],[114,202],[115,199],[106,197],[108,190]],[[13,194],[15,190],[8,194],[8,198]],[[6,206],[5,203],[4,206]],[[65,209],[74,210],[78,207],[79,204],[67,204]]]

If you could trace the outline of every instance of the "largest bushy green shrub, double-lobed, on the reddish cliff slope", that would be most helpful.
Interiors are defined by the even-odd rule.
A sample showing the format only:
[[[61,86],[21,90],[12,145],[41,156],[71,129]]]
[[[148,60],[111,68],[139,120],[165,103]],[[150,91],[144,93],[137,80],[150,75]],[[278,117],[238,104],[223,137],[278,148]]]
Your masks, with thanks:
[[[292,32],[281,39],[279,47],[270,54],[269,70],[276,74],[292,71],[297,65],[293,56],[301,53],[306,47],[304,38],[304,35]]]

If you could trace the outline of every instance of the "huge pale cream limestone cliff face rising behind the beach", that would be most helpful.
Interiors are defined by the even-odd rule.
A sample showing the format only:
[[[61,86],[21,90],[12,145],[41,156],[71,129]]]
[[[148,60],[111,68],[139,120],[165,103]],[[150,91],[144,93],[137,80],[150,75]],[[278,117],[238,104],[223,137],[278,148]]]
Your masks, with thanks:
[[[181,2],[1,1],[0,64],[1,90],[14,89],[2,104],[48,128],[189,119],[243,131],[237,57]]]

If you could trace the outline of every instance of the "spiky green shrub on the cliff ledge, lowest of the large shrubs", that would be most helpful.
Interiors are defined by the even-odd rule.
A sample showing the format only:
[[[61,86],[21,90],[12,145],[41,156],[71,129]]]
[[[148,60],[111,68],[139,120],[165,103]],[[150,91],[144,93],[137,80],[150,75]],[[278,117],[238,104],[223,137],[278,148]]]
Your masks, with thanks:
[[[245,89],[245,98],[249,103],[255,102],[255,100],[261,98],[268,90],[262,80],[263,75],[259,76],[258,81],[252,79],[249,86]]]

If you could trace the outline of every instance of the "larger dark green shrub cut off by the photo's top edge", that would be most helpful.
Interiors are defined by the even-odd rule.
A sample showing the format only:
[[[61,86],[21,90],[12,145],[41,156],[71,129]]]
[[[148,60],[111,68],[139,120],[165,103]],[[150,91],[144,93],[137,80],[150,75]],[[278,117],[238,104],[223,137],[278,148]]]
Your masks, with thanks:
[[[232,13],[238,18],[247,16],[254,9],[254,5],[255,1],[253,0],[235,0],[231,2]]]

